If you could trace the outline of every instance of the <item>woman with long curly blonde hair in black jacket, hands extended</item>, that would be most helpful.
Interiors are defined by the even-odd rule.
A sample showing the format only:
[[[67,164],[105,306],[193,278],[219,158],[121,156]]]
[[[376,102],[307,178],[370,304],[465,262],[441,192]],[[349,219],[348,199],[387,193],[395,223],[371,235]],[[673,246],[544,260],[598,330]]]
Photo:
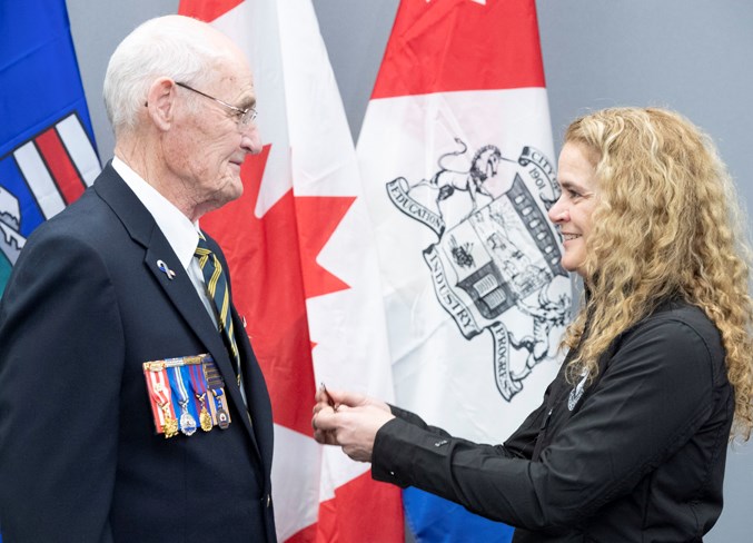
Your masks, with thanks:
[[[521,428],[479,445],[319,391],[315,434],[371,462],[375,478],[516,526],[514,542],[702,541],[722,511],[727,442],[753,426],[732,181],[688,120],[640,108],[574,121],[558,179],[549,218],[585,295],[562,371]]]

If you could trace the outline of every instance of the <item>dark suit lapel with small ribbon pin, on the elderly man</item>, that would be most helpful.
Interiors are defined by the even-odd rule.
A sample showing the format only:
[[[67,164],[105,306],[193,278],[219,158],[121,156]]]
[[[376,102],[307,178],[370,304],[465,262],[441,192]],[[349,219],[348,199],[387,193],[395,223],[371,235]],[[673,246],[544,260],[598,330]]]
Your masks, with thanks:
[[[259,454],[248,411],[237,385],[230,355],[172,247],[155,223],[151,214],[110,164],[107,165],[93,188],[115,211],[133,241],[143,246],[145,266],[162,287],[166,297],[176,312],[206,345],[225,379],[226,393],[236,405],[237,412],[241,414],[241,421],[237,421],[237,423],[246,428],[255,451]],[[160,269],[160,261],[167,269],[175,272],[174,278],[169,278],[168,274]],[[185,353],[185,355],[196,354],[200,353]]]

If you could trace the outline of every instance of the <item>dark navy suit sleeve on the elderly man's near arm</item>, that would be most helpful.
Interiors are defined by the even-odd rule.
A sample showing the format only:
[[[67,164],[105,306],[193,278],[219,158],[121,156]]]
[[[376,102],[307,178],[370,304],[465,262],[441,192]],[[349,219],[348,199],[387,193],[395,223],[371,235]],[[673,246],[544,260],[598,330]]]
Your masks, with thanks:
[[[99,255],[49,231],[27,244],[0,306],[0,345],[3,537],[111,541],[125,345]]]

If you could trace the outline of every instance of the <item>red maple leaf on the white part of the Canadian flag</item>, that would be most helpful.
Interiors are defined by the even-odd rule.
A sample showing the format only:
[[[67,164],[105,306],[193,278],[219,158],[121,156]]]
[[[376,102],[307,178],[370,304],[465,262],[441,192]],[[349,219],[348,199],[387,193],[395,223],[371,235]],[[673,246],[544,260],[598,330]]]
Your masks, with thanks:
[[[310,436],[316,384],[306,299],[348,288],[316,257],[355,198],[300,197],[290,189],[257,218],[269,149],[246,159],[244,195],[204,217],[201,227],[227,257],[234,303],[246,317],[275,423]]]

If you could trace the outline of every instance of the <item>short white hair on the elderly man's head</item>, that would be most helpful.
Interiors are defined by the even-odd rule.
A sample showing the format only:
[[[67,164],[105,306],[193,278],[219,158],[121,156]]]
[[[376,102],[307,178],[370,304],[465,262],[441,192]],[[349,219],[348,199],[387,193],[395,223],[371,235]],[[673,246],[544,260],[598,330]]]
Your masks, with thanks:
[[[230,58],[229,47],[212,39],[221,33],[206,22],[184,16],[150,19],[117,47],[105,75],[105,108],[117,136],[136,127],[155,79],[201,86],[212,68]],[[228,39],[228,46],[229,46]]]

